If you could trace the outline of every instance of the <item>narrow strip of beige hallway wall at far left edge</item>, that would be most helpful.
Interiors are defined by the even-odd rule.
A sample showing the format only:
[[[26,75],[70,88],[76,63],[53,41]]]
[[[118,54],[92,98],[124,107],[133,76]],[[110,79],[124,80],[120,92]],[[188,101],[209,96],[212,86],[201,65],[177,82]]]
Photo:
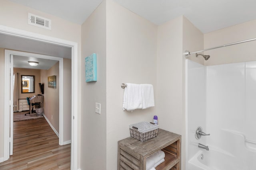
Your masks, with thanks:
[[[4,80],[4,49],[0,48],[0,80]],[[2,81],[3,82],[3,81]],[[4,83],[0,83],[0,159],[4,157]]]

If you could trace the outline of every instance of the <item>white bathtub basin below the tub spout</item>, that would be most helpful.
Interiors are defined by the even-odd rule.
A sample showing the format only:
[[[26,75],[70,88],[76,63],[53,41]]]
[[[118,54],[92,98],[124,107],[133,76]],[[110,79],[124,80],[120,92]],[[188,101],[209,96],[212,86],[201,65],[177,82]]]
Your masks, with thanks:
[[[246,150],[234,156],[224,150],[210,147],[209,151],[199,150],[189,161],[187,170],[256,170],[255,152]],[[235,148],[234,148],[235,149]],[[202,159],[203,155],[203,159]]]

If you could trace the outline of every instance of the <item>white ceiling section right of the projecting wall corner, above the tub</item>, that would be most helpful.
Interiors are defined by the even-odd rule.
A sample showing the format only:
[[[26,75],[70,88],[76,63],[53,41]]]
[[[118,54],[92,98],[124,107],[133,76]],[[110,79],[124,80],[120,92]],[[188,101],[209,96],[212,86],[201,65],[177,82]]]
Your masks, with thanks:
[[[160,25],[184,15],[202,33],[256,19],[256,0],[114,0]]]

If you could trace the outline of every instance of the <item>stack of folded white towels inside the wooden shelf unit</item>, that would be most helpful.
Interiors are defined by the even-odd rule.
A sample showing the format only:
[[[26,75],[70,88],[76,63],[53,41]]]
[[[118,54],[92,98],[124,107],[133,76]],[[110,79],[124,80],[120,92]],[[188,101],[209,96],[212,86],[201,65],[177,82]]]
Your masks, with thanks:
[[[152,167],[156,168],[156,166],[164,162],[164,157],[165,154],[162,150],[158,150],[154,154],[150,155],[146,158],[146,170],[151,170]]]

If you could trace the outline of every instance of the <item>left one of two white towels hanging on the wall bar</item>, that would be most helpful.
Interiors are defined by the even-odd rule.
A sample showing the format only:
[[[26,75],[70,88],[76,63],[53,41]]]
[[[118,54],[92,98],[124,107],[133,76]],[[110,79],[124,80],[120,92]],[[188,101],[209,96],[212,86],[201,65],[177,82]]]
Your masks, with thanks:
[[[142,92],[140,84],[126,83],[124,88],[123,110],[142,109]]]

